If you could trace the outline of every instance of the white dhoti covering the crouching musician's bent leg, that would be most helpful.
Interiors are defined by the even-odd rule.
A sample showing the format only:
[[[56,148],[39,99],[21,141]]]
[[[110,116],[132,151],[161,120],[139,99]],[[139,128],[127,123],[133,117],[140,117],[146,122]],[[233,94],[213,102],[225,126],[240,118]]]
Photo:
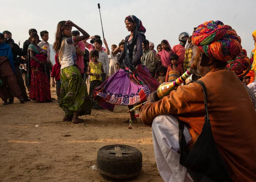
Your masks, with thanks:
[[[188,128],[183,134],[191,140]],[[152,135],[158,171],[165,182],[193,182],[186,168],[180,165],[179,127],[172,115],[159,115],[153,120]]]

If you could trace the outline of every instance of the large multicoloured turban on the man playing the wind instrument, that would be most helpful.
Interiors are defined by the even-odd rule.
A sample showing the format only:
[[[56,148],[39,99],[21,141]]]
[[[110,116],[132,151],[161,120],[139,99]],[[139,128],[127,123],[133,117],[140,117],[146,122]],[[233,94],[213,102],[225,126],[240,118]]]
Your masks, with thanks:
[[[198,26],[192,35],[192,44],[213,59],[228,62],[242,50],[241,39],[231,26],[221,21],[209,21]]]

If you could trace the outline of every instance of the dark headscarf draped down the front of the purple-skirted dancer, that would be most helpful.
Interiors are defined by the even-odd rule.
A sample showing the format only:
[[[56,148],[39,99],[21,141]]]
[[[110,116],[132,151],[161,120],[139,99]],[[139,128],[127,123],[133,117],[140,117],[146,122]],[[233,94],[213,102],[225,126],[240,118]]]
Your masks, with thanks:
[[[146,37],[144,35],[145,32],[146,32],[146,29],[142,25],[142,22],[140,21],[140,19],[138,19],[134,15],[129,15],[128,17],[125,18],[125,20],[136,23],[136,27],[135,27],[135,30],[134,30],[134,34],[133,34],[133,38],[132,38],[131,43],[128,44],[128,39],[129,39],[130,36],[127,36],[126,39],[125,39],[125,51],[126,51],[125,65],[127,65],[131,71],[134,71],[134,65],[132,65],[131,62],[132,62],[133,57],[134,57],[134,55],[137,51],[137,48],[136,48],[137,35],[138,34],[141,35],[142,42],[144,43],[145,40],[146,40]]]

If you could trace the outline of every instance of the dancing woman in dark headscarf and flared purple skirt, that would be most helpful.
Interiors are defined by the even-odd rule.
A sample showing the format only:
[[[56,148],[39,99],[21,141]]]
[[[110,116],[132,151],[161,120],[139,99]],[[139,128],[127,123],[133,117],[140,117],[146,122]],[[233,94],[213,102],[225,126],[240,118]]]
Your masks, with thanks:
[[[146,29],[134,15],[125,18],[125,26],[131,34],[125,37],[125,48],[117,62],[125,59],[126,68],[119,69],[94,90],[94,97],[109,111],[113,111],[114,105],[128,105],[131,109],[134,104],[146,101],[148,95],[159,86],[148,69],[141,64]],[[136,123],[134,115],[132,112],[131,119]]]

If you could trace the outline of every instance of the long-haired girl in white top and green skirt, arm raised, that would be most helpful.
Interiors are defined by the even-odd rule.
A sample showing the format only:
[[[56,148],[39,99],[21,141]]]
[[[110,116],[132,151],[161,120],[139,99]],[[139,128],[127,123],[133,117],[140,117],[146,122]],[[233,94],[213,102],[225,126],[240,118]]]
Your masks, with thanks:
[[[72,27],[76,27],[83,35],[71,37]],[[71,21],[60,21],[57,26],[53,50],[59,53],[61,64],[61,100],[59,106],[65,112],[63,121],[79,123],[79,116],[90,114],[92,104],[88,96],[87,86],[76,67],[76,48],[74,43],[89,38],[82,28]]]

